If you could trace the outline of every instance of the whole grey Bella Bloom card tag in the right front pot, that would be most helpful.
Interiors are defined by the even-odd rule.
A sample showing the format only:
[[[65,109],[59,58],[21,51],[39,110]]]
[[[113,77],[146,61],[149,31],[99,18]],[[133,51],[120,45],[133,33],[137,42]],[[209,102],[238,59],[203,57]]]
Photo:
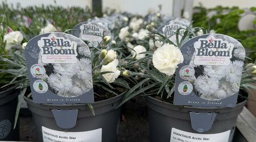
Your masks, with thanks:
[[[184,61],[175,78],[174,105],[235,107],[245,49],[230,36],[193,37],[180,48]]]

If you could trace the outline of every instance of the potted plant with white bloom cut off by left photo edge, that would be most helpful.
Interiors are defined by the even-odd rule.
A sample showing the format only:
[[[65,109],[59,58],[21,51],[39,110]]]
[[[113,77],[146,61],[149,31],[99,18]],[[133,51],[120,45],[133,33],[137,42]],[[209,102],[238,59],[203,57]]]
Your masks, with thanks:
[[[19,140],[19,126],[15,123],[15,112],[18,105],[18,95],[24,81],[24,64],[20,61],[23,36],[19,31],[13,31],[5,24],[1,25],[1,56],[0,56],[0,140]],[[15,52],[16,51],[16,52]],[[11,60],[19,62],[9,66]],[[15,80],[13,80],[15,78]],[[26,83],[26,82],[23,82]]]

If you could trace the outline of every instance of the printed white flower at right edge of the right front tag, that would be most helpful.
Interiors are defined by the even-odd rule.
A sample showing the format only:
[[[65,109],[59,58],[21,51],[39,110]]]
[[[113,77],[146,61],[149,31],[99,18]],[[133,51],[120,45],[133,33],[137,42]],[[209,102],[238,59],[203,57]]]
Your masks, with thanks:
[[[243,71],[243,62],[235,60],[229,65],[228,74],[226,74],[226,80],[231,83],[240,82]]]

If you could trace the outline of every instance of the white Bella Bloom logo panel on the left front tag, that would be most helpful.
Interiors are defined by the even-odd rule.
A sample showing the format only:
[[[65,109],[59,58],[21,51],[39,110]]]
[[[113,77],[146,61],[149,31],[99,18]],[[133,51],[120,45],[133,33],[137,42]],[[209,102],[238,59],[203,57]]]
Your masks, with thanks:
[[[76,63],[77,43],[51,34],[38,41],[43,63]]]

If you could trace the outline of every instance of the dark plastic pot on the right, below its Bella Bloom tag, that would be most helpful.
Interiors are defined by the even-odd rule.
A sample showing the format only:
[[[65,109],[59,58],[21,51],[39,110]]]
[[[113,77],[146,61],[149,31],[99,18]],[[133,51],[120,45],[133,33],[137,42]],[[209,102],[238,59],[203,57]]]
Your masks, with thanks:
[[[204,134],[223,133],[230,130],[230,135],[227,138],[230,142],[233,139],[234,130],[236,128],[237,116],[242,111],[246,102],[247,101],[238,103],[237,106],[233,108],[200,108],[175,106],[171,103],[159,101],[158,99],[152,97],[146,97],[148,122],[150,127],[150,140],[151,142],[171,141],[177,137],[183,137],[181,139],[187,140],[189,138],[191,141],[196,141],[192,140],[193,134],[191,137],[189,137],[187,133],[199,134],[199,139],[203,139]],[[210,130],[207,132],[200,133],[193,130],[189,112],[216,112],[217,116],[213,122],[212,128],[210,128]],[[175,138],[173,138],[173,136],[175,136]],[[205,135],[205,137],[207,136],[209,135]],[[224,142],[217,140],[213,141]]]

